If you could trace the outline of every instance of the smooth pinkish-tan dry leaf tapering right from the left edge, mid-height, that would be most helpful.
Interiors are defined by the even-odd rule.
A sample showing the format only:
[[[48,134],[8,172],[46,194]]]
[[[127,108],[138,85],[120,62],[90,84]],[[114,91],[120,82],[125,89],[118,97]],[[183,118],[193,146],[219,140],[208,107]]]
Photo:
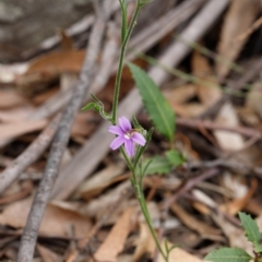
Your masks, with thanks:
[[[37,131],[47,124],[47,120],[24,120],[0,124],[0,139],[12,139],[21,134]]]

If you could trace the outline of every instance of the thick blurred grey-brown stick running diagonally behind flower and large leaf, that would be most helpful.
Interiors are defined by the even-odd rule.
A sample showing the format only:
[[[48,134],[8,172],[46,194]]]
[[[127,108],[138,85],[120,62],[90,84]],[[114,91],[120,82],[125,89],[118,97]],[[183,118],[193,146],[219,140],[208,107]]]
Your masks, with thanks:
[[[218,15],[226,8],[229,0],[212,0],[204,5],[198,15],[191,21],[182,33],[183,38],[189,41],[198,40],[209,28]],[[212,15],[211,15],[212,13]],[[176,67],[190,51],[190,47],[182,43],[174,43],[159,58],[160,63],[167,67]],[[160,85],[168,78],[168,73],[158,68],[152,68],[148,74],[156,84]],[[128,118],[135,115],[142,107],[142,102],[138,90],[130,92],[119,106],[119,112]],[[61,171],[55,184],[51,198],[64,200],[75,188],[92,174],[109,151],[111,135],[107,132],[109,123],[104,122],[91,140],[76,153],[73,160]],[[88,162],[86,162],[88,159]],[[81,165],[80,165],[81,164]],[[72,172],[74,176],[72,176]]]

